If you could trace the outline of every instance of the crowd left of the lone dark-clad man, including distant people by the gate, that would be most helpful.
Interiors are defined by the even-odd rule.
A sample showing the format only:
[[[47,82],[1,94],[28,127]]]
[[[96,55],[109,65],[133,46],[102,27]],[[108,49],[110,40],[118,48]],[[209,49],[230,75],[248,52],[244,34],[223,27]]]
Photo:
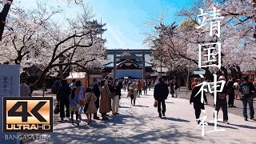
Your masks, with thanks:
[[[94,86],[91,89],[86,88],[84,90],[80,81],[73,79],[72,82],[68,83],[67,80],[62,80],[57,92],[61,121],[63,122],[64,118],[70,118],[71,116],[71,122],[76,122],[79,125],[82,114],[86,114],[90,125],[92,118],[100,119],[97,112],[101,114],[102,120],[106,120],[109,116],[108,113],[111,111],[112,115],[119,114],[119,100],[121,99],[122,89],[128,90],[127,98],[130,98],[131,105],[135,106],[136,98],[142,95],[142,90],[146,95],[147,90],[152,89],[157,82],[139,79],[123,80],[122,82],[118,78],[94,79]],[[167,94],[169,94],[169,91]],[[75,121],[74,114],[76,116]]]

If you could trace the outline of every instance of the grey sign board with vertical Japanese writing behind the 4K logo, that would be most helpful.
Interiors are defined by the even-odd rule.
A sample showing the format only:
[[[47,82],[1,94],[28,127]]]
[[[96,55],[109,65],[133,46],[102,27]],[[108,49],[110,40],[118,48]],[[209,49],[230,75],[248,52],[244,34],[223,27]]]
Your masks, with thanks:
[[[3,106],[3,97],[19,97],[20,87],[20,66],[19,65],[0,65],[0,101]],[[2,133],[3,111],[0,106],[0,143],[16,143],[16,141],[5,141],[5,134]],[[8,134],[8,133],[6,133]]]

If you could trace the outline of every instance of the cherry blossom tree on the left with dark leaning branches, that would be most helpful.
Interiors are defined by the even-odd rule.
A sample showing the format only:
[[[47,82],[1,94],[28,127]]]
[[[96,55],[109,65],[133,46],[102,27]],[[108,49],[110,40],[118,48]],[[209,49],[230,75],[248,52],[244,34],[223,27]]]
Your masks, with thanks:
[[[19,9],[18,13],[11,13],[0,45],[0,63],[20,64],[22,70],[38,67],[40,71],[30,85],[31,90],[44,78],[57,76],[59,66],[66,74],[71,70],[102,68],[106,40],[101,34],[106,24],[93,19],[90,6],[82,8],[82,14],[65,22],[54,20],[62,10],[47,9],[40,3],[35,10]],[[62,56],[65,60],[60,63]]]

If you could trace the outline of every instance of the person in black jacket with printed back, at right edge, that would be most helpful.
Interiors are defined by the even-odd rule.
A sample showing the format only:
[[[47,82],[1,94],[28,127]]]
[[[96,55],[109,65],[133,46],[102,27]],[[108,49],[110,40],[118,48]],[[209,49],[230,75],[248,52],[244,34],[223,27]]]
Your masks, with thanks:
[[[241,100],[242,100],[242,106],[243,106],[243,117],[246,121],[247,119],[247,103],[249,105],[250,109],[250,119],[254,118],[254,103],[253,103],[253,92],[255,91],[254,84],[252,82],[249,82],[249,77],[246,75],[243,77],[244,82],[240,85],[240,91],[241,91]]]

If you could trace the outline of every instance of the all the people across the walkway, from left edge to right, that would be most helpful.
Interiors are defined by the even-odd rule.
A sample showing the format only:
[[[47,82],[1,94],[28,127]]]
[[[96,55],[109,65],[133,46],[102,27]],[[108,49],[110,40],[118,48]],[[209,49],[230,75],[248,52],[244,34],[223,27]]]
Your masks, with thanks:
[[[226,82],[224,76],[220,76],[218,80],[220,82]],[[204,110],[204,105],[208,104],[206,92],[202,94],[202,87],[200,85],[202,82],[202,78],[194,78],[194,82],[191,83],[192,93],[190,95],[190,104],[193,103],[194,105],[194,113],[198,124],[201,122],[199,120],[201,110]],[[147,90],[153,87],[158,114],[159,117],[162,118],[166,113],[165,101],[168,94],[170,94],[171,97],[178,97],[177,90],[179,86],[175,78],[165,82],[163,78],[158,78],[155,81],[125,79],[122,82],[118,78],[110,78],[107,80],[94,79],[94,86],[92,88],[86,88],[86,90],[83,88],[82,82],[80,81],[73,79],[71,83],[68,83],[67,80],[62,80],[61,84],[58,86],[57,92],[57,100],[60,106],[60,118],[64,121],[64,118],[70,118],[71,116],[71,122],[76,122],[79,125],[79,122],[82,120],[82,114],[86,114],[88,124],[90,125],[92,118],[100,119],[97,114],[99,112],[102,116],[102,120],[106,120],[109,116],[108,113],[111,111],[112,115],[119,114],[122,89],[125,91],[128,90],[127,98],[130,98],[130,104],[134,106],[136,104],[136,98],[142,95],[142,90],[144,95],[147,95]],[[242,80],[230,78],[230,80],[226,82],[223,90],[217,92],[216,104],[214,104],[217,115],[220,108],[222,108],[223,122],[229,123],[228,107],[236,107],[234,106],[234,99],[242,101],[243,116],[246,121],[248,120],[247,105],[249,105],[250,109],[250,119],[254,118],[253,98],[256,95],[255,87],[256,78],[254,82],[249,82],[248,76],[244,76]],[[217,87],[217,90],[220,90],[220,86]],[[30,89],[25,81],[22,81],[21,84],[21,96],[30,96]]]

